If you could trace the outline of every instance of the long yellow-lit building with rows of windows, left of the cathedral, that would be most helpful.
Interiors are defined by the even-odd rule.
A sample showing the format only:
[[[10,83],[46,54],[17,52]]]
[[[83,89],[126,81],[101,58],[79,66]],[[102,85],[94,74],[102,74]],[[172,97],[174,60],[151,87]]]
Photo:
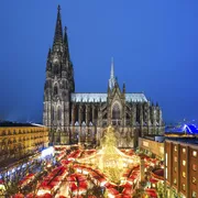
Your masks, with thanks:
[[[11,164],[48,146],[48,129],[33,124],[0,124],[0,164]]]

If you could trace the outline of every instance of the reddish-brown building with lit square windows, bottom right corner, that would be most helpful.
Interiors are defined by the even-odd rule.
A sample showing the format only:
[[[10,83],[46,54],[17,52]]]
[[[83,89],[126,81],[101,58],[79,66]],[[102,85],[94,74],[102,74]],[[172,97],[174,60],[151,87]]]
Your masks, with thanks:
[[[198,139],[168,134],[165,141],[165,187],[168,197],[198,197]]]

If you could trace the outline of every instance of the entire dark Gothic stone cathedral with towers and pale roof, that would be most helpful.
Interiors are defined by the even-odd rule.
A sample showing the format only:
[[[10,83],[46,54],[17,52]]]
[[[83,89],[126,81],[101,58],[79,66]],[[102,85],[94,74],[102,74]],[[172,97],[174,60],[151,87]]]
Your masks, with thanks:
[[[53,47],[46,62],[43,124],[53,144],[98,145],[103,128],[113,125],[119,147],[135,147],[138,138],[163,132],[162,110],[143,92],[127,92],[114,77],[111,62],[108,90],[103,94],[75,92],[67,29],[62,28],[58,6]]]

